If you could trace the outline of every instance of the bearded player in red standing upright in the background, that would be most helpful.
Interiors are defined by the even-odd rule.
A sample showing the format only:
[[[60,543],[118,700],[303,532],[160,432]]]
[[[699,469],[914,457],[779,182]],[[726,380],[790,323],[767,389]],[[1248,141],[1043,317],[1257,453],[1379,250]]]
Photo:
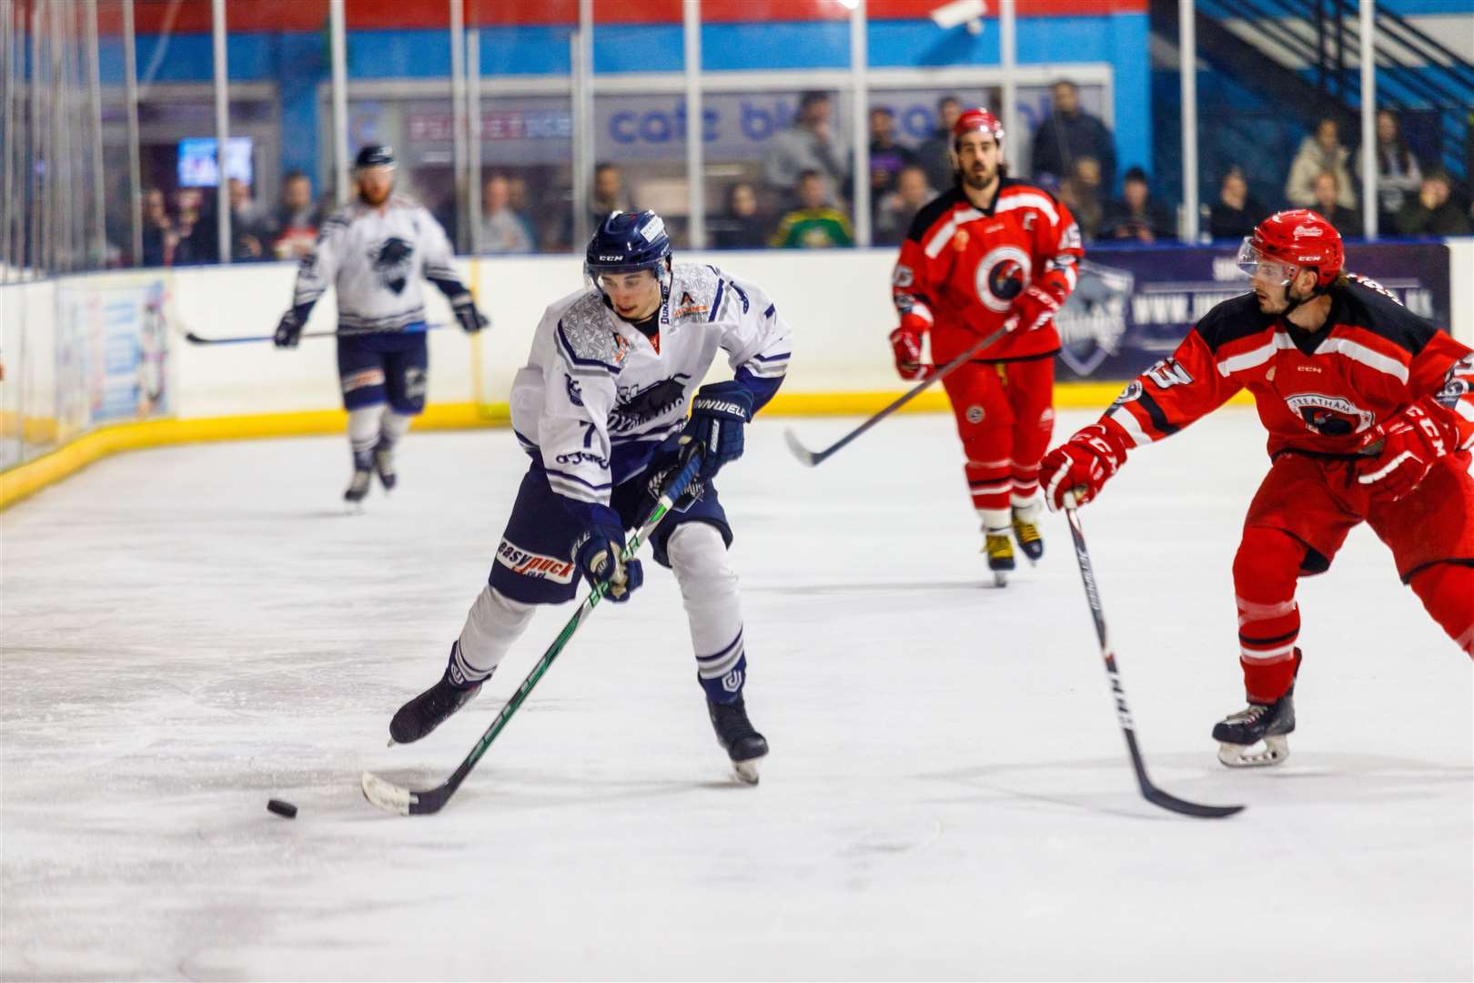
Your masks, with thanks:
[[[1004,128],[986,109],[952,127],[957,184],[923,208],[892,277],[901,327],[890,335],[902,379],[924,379],[921,339],[943,364],[1002,326],[996,343],[946,388],[965,455],[983,550],[999,587],[1014,569],[1010,526],[1030,562],[1039,536],[1039,457],[1054,430],[1054,314],[1075,289],[1080,231],[1063,202],[1005,175]]]

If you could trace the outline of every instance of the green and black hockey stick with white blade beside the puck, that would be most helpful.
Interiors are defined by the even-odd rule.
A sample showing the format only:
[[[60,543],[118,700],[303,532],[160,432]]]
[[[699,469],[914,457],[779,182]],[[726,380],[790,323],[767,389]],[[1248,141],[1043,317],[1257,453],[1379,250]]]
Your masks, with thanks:
[[[696,477],[700,463],[700,457],[693,454],[691,460],[685,463],[685,467],[677,472],[675,477],[671,479],[671,483],[665,486],[665,491],[660,494],[659,501],[656,501],[654,508],[650,510],[650,516],[644,520],[644,525],[640,526],[640,529],[635,531],[635,534],[631,535],[629,541],[625,544],[625,551],[622,554],[624,560],[628,562],[635,556],[635,553],[640,551],[640,547],[644,545],[646,539],[650,538],[656,526],[660,525],[660,520],[671,511],[671,504],[681,497],[685,486]],[[607,581],[598,584],[588,592],[584,603],[578,606],[576,612],[573,612],[573,618],[563,625],[563,631],[559,632],[557,638],[553,640],[553,644],[542,653],[542,657],[538,659],[535,666],[532,666],[532,672],[529,672],[526,679],[522,681],[517,691],[511,694],[507,704],[501,707],[500,713],[497,713],[497,719],[491,722],[491,727],[486,728],[486,732],[481,735],[476,746],[470,749],[469,755],[466,755],[466,760],[460,763],[460,768],[451,772],[450,778],[435,788],[411,791],[410,788],[385,781],[383,778],[366,771],[360,780],[364,790],[364,799],[386,812],[397,812],[405,816],[427,815],[444,809],[445,803],[450,802],[450,797],[455,794],[457,788],[460,788],[460,784],[466,781],[466,775],[470,774],[470,769],[476,766],[476,762],[479,762],[482,755],[486,753],[491,743],[497,740],[497,735],[501,734],[507,721],[511,719],[511,715],[517,712],[517,707],[522,706],[522,702],[528,699],[528,694],[532,693],[532,688],[548,671],[548,666],[553,665],[553,660],[559,657],[559,653],[562,653],[569,640],[573,638],[573,632],[576,632],[584,620],[593,613],[594,606],[598,604],[606,591],[609,591]]]

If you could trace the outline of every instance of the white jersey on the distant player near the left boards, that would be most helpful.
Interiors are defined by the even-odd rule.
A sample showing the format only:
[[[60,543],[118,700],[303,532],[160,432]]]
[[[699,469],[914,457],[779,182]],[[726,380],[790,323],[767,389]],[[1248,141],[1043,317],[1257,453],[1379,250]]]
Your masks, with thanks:
[[[302,258],[292,307],[311,309],[333,283],[340,327],[395,332],[425,321],[422,276],[453,302],[466,293],[435,217],[399,195],[389,197],[382,214],[352,202],[323,223],[317,246]]]

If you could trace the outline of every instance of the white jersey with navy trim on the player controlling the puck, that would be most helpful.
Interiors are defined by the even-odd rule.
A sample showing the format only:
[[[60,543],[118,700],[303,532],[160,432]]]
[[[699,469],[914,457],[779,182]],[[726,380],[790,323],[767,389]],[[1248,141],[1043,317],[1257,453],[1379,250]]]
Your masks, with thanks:
[[[678,262],[659,312],[657,346],[594,289],[547,308],[511,385],[511,427],[554,492],[609,504],[660,441],[680,433],[694,389],[727,352],[737,380],[765,404],[789,367],[789,326],[753,283]]]

